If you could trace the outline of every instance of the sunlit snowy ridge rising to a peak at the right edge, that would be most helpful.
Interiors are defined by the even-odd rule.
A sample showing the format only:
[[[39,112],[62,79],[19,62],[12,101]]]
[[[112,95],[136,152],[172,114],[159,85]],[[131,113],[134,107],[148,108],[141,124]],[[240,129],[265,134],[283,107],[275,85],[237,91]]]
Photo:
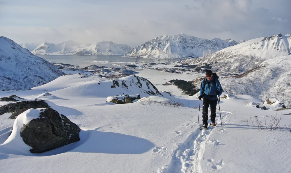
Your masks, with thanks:
[[[276,34],[256,38],[210,55],[183,60],[184,65],[197,65],[196,70],[211,69],[214,72],[244,73],[262,62],[278,56],[290,55],[291,34]]]

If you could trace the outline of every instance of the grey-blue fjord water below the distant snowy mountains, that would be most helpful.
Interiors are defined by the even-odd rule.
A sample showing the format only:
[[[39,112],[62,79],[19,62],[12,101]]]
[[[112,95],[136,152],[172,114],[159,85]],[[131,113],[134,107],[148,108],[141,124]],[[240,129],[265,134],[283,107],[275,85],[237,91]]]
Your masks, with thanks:
[[[38,55],[51,63],[78,65],[81,68],[89,65],[114,67],[123,63],[165,63],[179,61],[179,59],[146,59],[122,57],[122,55]]]

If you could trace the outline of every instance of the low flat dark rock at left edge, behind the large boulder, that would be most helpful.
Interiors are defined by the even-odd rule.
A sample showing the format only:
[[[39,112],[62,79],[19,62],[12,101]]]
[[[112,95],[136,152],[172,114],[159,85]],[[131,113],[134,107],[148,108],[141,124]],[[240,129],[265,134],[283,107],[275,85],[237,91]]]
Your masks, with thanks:
[[[19,101],[16,103],[6,104],[0,107],[0,115],[4,113],[12,113],[10,119],[15,119],[19,114],[33,108],[49,108],[49,105],[44,100],[40,101]]]

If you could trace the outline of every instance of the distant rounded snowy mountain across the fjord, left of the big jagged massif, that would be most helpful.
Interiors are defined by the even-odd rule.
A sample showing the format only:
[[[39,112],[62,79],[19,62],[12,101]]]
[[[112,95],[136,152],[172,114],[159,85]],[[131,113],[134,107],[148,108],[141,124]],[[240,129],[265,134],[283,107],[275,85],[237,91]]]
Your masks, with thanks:
[[[84,48],[72,51],[76,55],[124,55],[131,50],[127,44],[116,44],[113,42],[95,42]]]

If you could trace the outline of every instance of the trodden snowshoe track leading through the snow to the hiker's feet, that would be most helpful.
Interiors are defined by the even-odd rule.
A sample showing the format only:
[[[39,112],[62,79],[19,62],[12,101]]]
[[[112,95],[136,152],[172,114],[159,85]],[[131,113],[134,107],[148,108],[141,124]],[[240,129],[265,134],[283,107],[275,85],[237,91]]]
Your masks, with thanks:
[[[224,119],[230,112],[221,112],[221,118]],[[220,115],[217,114],[217,118]],[[220,124],[218,124],[219,128]],[[209,127],[209,130],[193,131],[184,143],[181,143],[174,151],[172,160],[167,168],[158,170],[163,173],[202,173],[201,160],[205,151],[205,144],[216,127]]]

